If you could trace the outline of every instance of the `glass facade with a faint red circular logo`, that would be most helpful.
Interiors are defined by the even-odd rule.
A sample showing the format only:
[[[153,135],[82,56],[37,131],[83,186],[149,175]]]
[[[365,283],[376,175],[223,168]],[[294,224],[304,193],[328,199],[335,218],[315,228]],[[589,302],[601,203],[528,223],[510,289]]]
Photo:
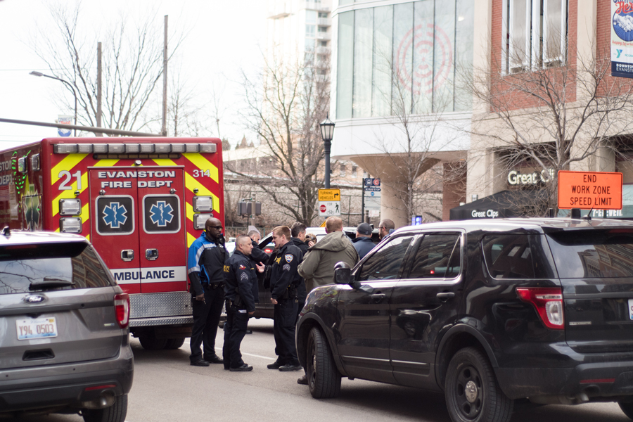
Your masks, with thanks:
[[[474,0],[361,7],[338,13],[337,120],[472,110]]]

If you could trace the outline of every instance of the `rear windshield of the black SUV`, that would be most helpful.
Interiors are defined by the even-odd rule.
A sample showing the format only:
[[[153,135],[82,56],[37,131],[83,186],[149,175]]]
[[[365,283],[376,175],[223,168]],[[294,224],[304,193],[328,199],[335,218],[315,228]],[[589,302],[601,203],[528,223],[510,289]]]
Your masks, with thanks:
[[[561,279],[633,277],[633,230],[578,230],[548,234]]]

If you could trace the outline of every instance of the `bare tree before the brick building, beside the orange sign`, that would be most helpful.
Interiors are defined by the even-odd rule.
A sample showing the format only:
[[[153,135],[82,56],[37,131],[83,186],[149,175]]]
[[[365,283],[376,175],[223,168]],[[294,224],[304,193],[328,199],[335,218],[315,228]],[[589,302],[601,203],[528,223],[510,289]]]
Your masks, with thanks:
[[[494,154],[499,177],[518,166],[534,169],[527,185],[539,193],[528,205],[514,200],[524,215],[556,210],[557,172],[617,153],[618,136],[632,129],[633,85],[610,77],[608,51],[592,45],[591,53],[582,53],[572,43],[540,48],[538,60],[539,52],[530,54],[519,46],[503,61],[494,51],[490,68],[475,68],[469,84],[482,106],[473,116],[472,134],[485,146],[479,147],[481,153]]]

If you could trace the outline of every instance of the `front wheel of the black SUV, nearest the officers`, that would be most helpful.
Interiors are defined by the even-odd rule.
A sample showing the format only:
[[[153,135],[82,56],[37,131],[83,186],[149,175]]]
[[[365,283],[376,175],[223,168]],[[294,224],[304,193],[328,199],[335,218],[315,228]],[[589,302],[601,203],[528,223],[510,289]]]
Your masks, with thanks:
[[[319,328],[310,330],[307,340],[306,377],[315,399],[338,396],[340,373],[336,369],[328,342]]]

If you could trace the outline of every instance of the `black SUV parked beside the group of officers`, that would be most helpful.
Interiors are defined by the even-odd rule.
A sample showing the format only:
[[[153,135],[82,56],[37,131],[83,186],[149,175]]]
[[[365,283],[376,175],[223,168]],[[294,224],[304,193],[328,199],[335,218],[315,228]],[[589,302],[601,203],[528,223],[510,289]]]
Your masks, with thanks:
[[[525,398],[633,418],[633,222],[404,227],[334,282],[297,325],[313,397],[347,376],[443,391],[453,421],[508,421]]]

